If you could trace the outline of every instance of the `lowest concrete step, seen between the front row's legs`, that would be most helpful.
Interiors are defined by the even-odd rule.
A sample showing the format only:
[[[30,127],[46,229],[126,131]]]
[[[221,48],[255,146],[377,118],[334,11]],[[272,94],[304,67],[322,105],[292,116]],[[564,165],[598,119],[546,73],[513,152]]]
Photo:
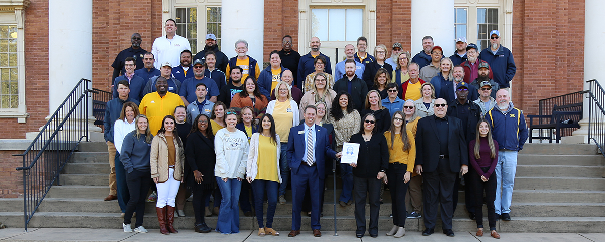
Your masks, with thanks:
[[[2,223],[8,227],[22,227],[23,214],[21,212],[0,212]],[[366,223],[368,222],[366,217]],[[134,218],[132,222],[134,223]],[[217,217],[205,219],[208,226],[215,228]],[[355,217],[338,217],[338,231],[355,231]],[[112,228],[119,229],[122,223],[120,214],[107,213],[77,213],[77,212],[38,212],[30,221],[30,227],[66,227],[66,228]],[[321,218],[322,232],[331,234],[334,229],[334,218],[324,216]],[[424,230],[424,220],[407,219],[405,222],[407,231]],[[175,229],[191,229],[194,224],[193,217],[175,218]],[[301,217],[301,230],[310,231],[310,218]],[[440,220],[437,219],[436,234],[441,233]],[[487,224],[487,221],[484,221]],[[273,229],[284,236],[290,231],[292,225],[292,216],[275,216],[273,219]],[[158,229],[157,215],[145,214],[143,226],[147,229]],[[393,226],[392,219],[389,217],[379,217],[379,231],[388,231]],[[454,232],[475,232],[476,221],[468,218],[454,217]],[[258,228],[256,218],[241,218],[241,230],[256,230]],[[512,221],[497,221],[496,229],[499,232],[543,232],[543,233],[604,233],[605,217],[512,217]],[[151,231],[155,233],[157,231]]]

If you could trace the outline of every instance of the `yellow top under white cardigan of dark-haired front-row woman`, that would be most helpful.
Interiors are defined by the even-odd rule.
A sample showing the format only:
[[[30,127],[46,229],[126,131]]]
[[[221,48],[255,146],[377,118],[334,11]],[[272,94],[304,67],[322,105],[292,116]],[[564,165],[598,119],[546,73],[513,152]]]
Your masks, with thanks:
[[[258,136],[258,159],[256,180],[280,182],[277,176],[277,144],[271,137]]]

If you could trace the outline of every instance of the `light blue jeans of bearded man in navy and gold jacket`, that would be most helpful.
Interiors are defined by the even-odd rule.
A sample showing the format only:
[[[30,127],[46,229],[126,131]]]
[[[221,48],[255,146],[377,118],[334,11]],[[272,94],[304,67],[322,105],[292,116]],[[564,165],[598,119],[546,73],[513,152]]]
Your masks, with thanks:
[[[510,214],[512,187],[515,185],[517,172],[517,151],[498,151],[498,163],[495,165],[496,175],[495,213]]]

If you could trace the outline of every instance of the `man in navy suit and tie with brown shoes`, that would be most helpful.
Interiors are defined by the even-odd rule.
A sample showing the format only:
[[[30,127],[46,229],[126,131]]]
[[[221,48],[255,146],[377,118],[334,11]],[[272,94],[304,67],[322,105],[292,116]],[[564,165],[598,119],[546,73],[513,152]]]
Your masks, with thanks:
[[[327,129],[315,125],[317,109],[313,105],[305,107],[304,123],[290,128],[288,137],[288,166],[292,172],[292,232],[288,237],[300,234],[302,199],[307,184],[311,189],[311,229],[313,236],[321,237],[319,224],[319,206],[321,189],[324,189],[325,156],[339,159],[342,152],[336,154],[330,148]],[[322,174],[322,175],[319,175]]]

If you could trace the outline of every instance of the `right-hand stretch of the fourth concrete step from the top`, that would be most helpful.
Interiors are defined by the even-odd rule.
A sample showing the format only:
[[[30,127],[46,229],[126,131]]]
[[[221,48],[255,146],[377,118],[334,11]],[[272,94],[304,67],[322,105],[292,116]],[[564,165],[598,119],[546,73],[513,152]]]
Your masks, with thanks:
[[[515,177],[515,189],[605,190],[605,178]]]

